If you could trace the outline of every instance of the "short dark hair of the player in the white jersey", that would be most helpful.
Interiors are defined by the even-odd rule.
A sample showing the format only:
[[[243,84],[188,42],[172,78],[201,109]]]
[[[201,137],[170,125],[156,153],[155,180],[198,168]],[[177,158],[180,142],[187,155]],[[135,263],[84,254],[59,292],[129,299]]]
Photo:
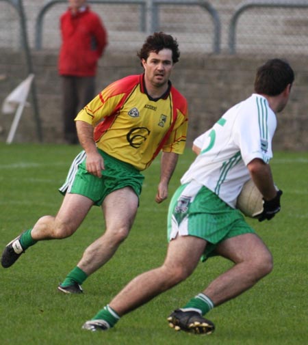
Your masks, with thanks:
[[[293,83],[294,72],[282,59],[270,59],[257,69],[255,76],[255,92],[268,96],[277,96],[287,85]]]

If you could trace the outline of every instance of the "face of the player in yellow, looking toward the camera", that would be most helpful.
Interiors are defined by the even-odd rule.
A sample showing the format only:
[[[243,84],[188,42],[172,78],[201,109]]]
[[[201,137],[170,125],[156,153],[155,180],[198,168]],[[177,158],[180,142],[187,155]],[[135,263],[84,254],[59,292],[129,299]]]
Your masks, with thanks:
[[[154,87],[162,87],[168,83],[173,68],[172,51],[170,49],[162,49],[158,53],[152,51],[146,60],[142,59],[142,66],[146,81]]]

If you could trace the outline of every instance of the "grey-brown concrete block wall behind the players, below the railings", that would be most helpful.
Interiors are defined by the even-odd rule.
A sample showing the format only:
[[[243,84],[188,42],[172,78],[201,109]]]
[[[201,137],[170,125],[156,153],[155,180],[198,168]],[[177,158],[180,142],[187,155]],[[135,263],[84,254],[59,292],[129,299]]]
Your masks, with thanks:
[[[272,56],[271,56],[272,57]],[[35,85],[44,142],[62,143],[61,88],[57,75],[57,53],[33,53]],[[172,72],[172,83],[189,102],[190,129],[188,143],[214,124],[229,107],[253,92],[257,66],[268,56],[194,55],[181,56]],[[289,59],[296,73],[290,102],[278,114],[274,148],[279,150],[308,150],[308,66],[306,59]],[[97,92],[116,79],[142,72],[135,53],[107,52],[99,64]],[[27,77],[24,57],[20,53],[1,51],[0,102]],[[29,97],[31,102],[31,95]],[[0,113],[0,141],[5,141],[12,115]],[[15,142],[38,141],[33,109],[27,108],[16,132]]]

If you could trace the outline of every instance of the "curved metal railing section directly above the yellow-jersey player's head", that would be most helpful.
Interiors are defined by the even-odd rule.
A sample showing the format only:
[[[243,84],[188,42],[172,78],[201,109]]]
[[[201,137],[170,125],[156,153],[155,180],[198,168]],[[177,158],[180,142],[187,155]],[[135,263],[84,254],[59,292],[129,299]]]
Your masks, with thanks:
[[[215,8],[208,2],[203,0],[152,0],[152,20],[151,20],[151,29],[152,32],[155,32],[159,29],[159,7],[161,5],[193,5],[199,6],[203,10],[206,10],[211,15],[211,18],[214,22],[214,39],[213,39],[213,51],[214,53],[220,53],[220,18],[218,16],[218,12]]]

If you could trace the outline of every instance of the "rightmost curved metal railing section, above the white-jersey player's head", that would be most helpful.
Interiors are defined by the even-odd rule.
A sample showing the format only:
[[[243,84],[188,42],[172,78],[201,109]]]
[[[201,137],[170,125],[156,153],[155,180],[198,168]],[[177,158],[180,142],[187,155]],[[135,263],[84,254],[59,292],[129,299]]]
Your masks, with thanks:
[[[238,24],[238,19],[240,15],[249,10],[251,8],[308,8],[308,1],[296,1],[296,0],[269,0],[269,1],[261,1],[261,0],[250,0],[244,1],[240,3],[240,5],[235,8],[235,12],[231,18],[230,25],[229,25],[229,53],[235,54],[236,53],[236,37],[235,31],[236,26]]]

